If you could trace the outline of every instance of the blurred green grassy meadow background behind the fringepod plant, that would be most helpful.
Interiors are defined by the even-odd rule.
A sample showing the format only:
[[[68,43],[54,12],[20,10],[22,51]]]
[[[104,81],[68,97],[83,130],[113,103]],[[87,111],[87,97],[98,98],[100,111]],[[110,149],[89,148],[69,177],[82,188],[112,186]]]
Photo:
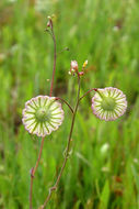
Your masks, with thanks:
[[[128,109],[115,122],[96,119],[91,97],[80,103],[72,155],[48,209],[139,209],[139,1],[0,1],[0,208],[28,209],[30,169],[40,139],[21,122],[26,100],[48,95],[53,41],[44,32],[55,14],[58,54],[54,95],[74,105],[77,80],[70,61],[89,61],[81,94],[114,86]],[[63,160],[71,114],[46,138],[34,180],[33,208],[45,200]]]

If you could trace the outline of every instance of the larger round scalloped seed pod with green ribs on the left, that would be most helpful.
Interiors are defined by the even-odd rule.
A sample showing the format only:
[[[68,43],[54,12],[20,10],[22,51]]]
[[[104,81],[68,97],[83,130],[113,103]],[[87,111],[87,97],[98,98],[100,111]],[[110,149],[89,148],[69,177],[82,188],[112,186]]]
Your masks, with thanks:
[[[38,96],[25,103],[22,122],[32,134],[48,135],[60,127],[62,120],[63,110],[55,97]]]

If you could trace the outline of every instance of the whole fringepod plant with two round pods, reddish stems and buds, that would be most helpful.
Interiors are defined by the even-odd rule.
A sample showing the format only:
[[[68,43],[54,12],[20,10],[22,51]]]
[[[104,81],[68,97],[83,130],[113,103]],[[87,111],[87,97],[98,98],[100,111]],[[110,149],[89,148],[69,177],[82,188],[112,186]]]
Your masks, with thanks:
[[[36,164],[31,169],[31,186],[30,186],[30,209],[33,209],[33,182],[35,177],[35,173],[37,170],[43,146],[45,142],[45,136],[53,133],[53,131],[57,131],[59,127],[62,124],[65,112],[62,110],[62,105],[67,105],[70,109],[72,118],[71,118],[71,125],[69,131],[69,136],[67,141],[67,147],[65,152],[63,163],[59,170],[59,174],[56,178],[55,184],[48,189],[48,195],[44,200],[44,204],[39,206],[39,209],[46,208],[48,205],[51,195],[56,191],[65,167],[67,165],[67,161],[70,154],[71,148],[71,138],[76,121],[76,114],[78,111],[78,107],[80,101],[91,91],[94,91],[94,96],[92,98],[92,113],[101,120],[105,121],[114,121],[117,118],[121,117],[127,108],[127,100],[126,96],[123,94],[121,90],[114,88],[114,87],[106,87],[106,88],[92,88],[88,90],[84,95],[80,96],[80,85],[81,85],[81,77],[84,76],[85,68],[88,65],[88,61],[85,61],[82,65],[81,70],[79,70],[78,62],[71,61],[70,63],[70,70],[68,72],[70,76],[77,77],[78,80],[78,92],[77,92],[77,100],[76,105],[72,108],[68,101],[63,100],[60,97],[53,96],[53,88],[54,88],[54,78],[56,72],[56,61],[57,61],[57,45],[56,45],[56,37],[54,33],[54,24],[53,18],[48,16],[47,28],[46,31],[51,35],[54,42],[54,68],[53,68],[53,78],[50,81],[50,91],[49,95],[39,95],[35,98],[25,102],[25,108],[23,109],[23,118],[22,122],[25,127],[25,130],[28,131],[30,134],[35,134],[38,138],[42,138],[40,148],[38,153],[38,157]]]

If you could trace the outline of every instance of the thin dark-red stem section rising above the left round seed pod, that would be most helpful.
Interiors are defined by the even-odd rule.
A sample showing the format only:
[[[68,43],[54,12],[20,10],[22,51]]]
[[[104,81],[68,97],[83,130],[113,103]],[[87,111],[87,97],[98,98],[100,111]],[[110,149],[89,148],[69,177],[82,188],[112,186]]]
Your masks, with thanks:
[[[56,72],[57,48],[56,48],[56,37],[55,37],[54,29],[53,29],[53,22],[50,22],[50,24],[51,24],[50,29],[51,29],[51,35],[53,35],[53,41],[54,41],[54,69],[53,69],[53,79],[51,79],[50,92],[49,92],[49,96],[51,97],[53,87],[54,87],[55,72]]]

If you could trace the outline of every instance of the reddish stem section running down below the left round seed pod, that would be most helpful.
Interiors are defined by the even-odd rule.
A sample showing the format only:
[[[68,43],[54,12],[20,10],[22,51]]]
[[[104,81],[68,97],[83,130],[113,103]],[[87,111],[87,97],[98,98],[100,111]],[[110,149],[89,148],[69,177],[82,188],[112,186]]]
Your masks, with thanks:
[[[39,148],[39,153],[38,153],[38,158],[36,161],[36,165],[35,167],[33,167],[31,169],[31,186],[30,186],[30,209],[32,209],[32,198],[33,198],[33,179],[35,177],[35,172],[38,167],[39,161],[40,161],[40,156],[42,156],[42,151],[43,151],[43,146],[44,146],[44,140],[45,138],[42,138],[42,143],[40,143],[40,148]]]

